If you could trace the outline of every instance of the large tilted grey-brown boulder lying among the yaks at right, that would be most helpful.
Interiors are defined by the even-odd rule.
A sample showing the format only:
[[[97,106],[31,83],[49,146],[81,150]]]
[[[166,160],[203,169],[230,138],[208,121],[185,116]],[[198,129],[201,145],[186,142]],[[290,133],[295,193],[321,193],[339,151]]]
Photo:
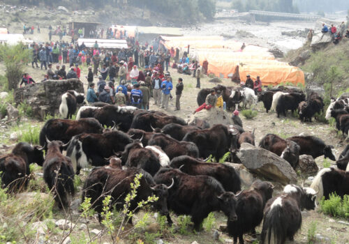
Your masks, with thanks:
[[[289,162],[275,153],[243,143],[237,157],[251,172],[283,185],[297,182],[297,174]]]

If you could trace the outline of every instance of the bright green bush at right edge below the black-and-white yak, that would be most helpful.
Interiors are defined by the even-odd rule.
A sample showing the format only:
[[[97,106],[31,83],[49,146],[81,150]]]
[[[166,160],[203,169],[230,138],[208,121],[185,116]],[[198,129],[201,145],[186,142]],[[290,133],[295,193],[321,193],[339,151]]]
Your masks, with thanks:
[[[327,200],[322,197],[320,211],[333,217],[349,218],[349,195],[344,195],[343,200],[336,193],[329,195]]]

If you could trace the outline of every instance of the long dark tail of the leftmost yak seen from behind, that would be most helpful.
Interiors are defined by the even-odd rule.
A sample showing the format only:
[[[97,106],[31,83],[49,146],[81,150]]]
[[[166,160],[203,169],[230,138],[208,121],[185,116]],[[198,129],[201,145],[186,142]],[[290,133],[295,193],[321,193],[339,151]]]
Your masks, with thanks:
[[[54,200],[59,208],[67,208],[69,204],[69,196],[75,194],[74,189],[74,171],[72,167],[62,163],[57,171],[51,172],[52,185],[55,185]]]

